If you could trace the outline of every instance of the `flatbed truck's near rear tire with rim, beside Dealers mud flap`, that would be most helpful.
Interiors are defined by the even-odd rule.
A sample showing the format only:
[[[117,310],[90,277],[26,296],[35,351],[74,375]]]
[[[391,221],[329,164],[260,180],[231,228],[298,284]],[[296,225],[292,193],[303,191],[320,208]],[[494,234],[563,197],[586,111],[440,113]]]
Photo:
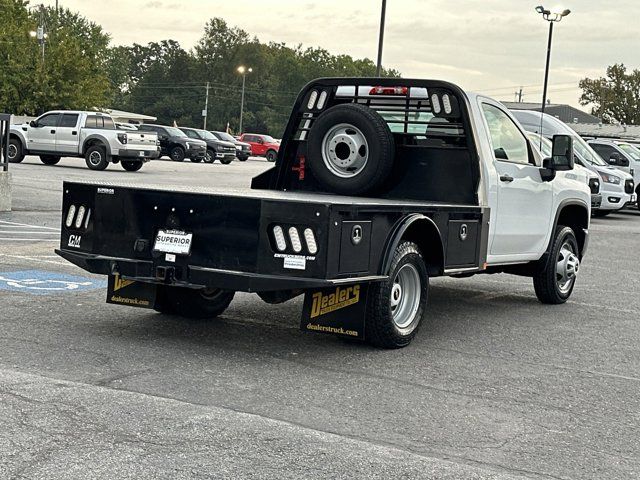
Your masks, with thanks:
[[[369,290],[365,339],[381,348],[402,348],[415,337],[427,307],[429,274],[413,242],[396,248],[389,279]]]

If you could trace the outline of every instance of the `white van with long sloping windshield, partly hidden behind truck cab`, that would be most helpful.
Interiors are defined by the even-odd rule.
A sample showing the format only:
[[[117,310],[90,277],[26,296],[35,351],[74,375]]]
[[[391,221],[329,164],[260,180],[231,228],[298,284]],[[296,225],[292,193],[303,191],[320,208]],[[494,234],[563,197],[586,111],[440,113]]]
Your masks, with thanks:
[[[514,110],[511,113],[530,132],[542,133],[547,138],[552,138],[554,135],[570,135],[573,138],[576,163],[597,173],[602,180],[600,187],[602,204],[594,215],[604,217],[636,201],[633,177],[602,160],[600,155],[568,125],[547,113],[541,114],[531,110]],[[542,118],[541,115],[543,115]],[[542,132],[540,132],[541,125]]]

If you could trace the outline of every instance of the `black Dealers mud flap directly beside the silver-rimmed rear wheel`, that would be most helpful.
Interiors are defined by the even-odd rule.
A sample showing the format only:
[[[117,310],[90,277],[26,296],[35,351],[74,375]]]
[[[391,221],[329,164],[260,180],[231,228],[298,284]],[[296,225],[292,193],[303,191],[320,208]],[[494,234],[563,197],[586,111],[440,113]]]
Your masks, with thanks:
[[[364,340],[368,291],[367,283],[307,291],[300,328]]]

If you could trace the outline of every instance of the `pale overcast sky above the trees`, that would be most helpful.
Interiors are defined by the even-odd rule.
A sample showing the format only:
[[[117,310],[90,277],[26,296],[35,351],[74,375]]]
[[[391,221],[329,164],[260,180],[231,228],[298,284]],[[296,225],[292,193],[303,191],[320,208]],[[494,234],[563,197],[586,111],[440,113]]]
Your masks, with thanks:
[[[37,0],[32,3],[38,3]],[[53,5],[55,0],[44,0]],[[540,101],[548,23],[529,0],[388,0],[383,64],[513,100]],[[173,39],[191,48],[206,21],[224,18],[262,41],[376,58],[380,0],[60,0],[101,24],[114,44]],[[547,8],[557,0],[543,3]],[[640,1],[566,0],[554,28],[549,98],[578,105],[578,80],[608,65],[638,68]],[[615,5],[615,6],[614,6]],[[632,20],[633,19],[633,20]]]

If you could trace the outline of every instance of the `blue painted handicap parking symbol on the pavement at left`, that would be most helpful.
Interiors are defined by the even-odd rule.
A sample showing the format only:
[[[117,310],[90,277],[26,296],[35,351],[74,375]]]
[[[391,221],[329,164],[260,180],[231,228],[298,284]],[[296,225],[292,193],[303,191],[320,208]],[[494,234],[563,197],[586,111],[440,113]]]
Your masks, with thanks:
[[[66,275],[45,270],[21,270],[0,272],[0,290],[30,293],[32,295],[51,295],[56,293],[95,290],[107,286],[105,280]]]

